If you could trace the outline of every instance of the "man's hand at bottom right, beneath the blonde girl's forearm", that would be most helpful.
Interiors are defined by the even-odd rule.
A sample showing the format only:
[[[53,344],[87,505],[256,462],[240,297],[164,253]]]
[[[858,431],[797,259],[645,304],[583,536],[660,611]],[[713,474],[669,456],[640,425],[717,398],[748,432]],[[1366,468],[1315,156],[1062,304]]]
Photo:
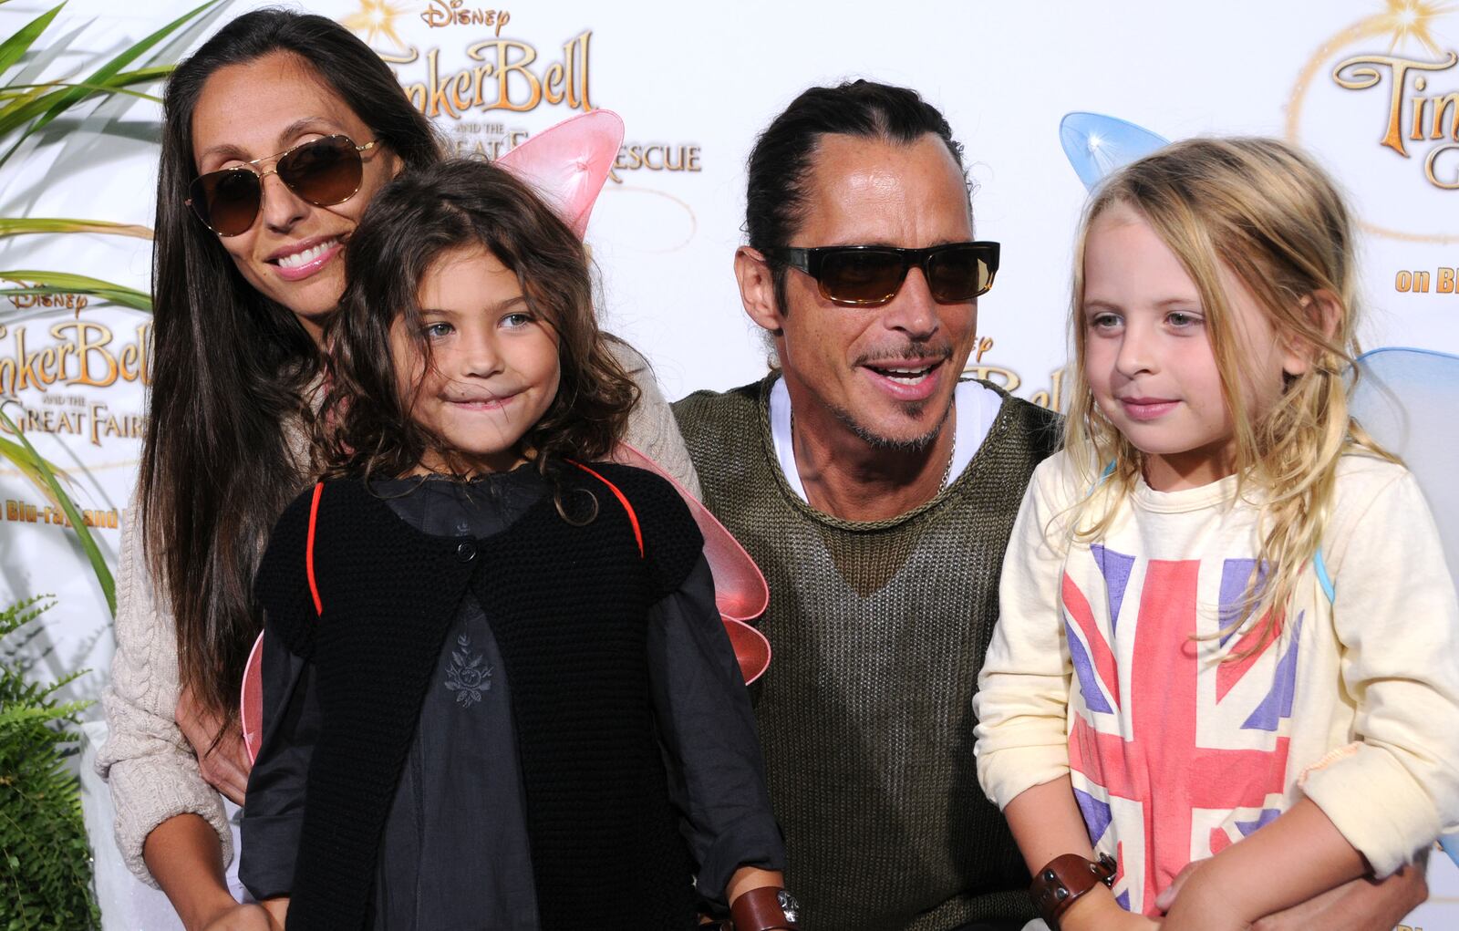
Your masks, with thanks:
[[[1160,893],[1156,906],[1169,912],[1186,880],[1199,868],[1201,861],[1186,864],[1174,881]],[[1393,925],[1428,899],[1425,878],[1427,858],[1409,864],[1377,881],[1371,878],[1352,880],[1336,889],[1268,915],[1252,925],[1252,931],[1392,931]]]

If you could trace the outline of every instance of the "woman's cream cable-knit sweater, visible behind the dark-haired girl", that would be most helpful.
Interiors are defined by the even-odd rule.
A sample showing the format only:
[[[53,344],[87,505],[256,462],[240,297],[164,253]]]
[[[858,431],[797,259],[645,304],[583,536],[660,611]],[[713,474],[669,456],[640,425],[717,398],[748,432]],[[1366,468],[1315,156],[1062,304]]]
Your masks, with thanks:
[[[629,445],[655,460],[697,498],[699,477],[652,369],[626,343],[610,346],[642,391],[629,420]],[[302,451],[303,438],[295,432],[290,439],[296,451]],[[117,846],[127,867],[156,886],[142,859],[142,845],[152,829],[169,817],[191,813],[212,824],[223,848],[225,865],[233,858],[233,843],[222,797],[203,781],[193,747],[174,719],[181,690],[177,629],[172,613],[159,604],[153,590],[139,518],[139,502],[133,496],[121,530],[117,652],[111,684],[102,699],[109,733],[96,754],[96,769],[111,784]]]

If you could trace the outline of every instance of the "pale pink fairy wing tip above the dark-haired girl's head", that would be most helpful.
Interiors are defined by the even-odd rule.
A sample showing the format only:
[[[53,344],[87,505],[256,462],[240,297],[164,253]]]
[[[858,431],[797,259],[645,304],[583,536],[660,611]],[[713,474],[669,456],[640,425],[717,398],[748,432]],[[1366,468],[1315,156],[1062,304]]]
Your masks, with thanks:
[[[623,120],[594,109],[528,137],[496,163],[534,185],[581,239],[622,144]]]

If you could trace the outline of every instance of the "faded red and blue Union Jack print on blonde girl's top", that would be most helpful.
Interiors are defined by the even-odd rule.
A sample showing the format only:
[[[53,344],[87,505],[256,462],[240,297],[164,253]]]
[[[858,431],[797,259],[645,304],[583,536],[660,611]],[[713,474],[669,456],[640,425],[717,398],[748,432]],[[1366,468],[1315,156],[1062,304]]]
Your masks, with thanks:
[[[1250,559],[1137,559],[1103,546],[1071,553],[1069,768],[1091,842],[1119,859],[1115,895],[1129,911],[1156,913],[1157,893],[1188,862],[1285,807],[1303,616],[1265,644],[1262,625],[1215,636],[1243,614],[1253,569]]]

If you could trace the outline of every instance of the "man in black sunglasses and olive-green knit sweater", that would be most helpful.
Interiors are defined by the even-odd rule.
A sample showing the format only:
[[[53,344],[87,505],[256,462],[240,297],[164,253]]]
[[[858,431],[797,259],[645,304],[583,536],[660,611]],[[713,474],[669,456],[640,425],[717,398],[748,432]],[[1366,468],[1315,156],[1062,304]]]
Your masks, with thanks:
[[[972,696],[1058,432],[963,379],[998,244],[973,233],[947,121],[907,89],[813,88],[748,168],[735,274],[778,371],[674,413],[770,585],[751,699],[801,927],[1020,928],[1029,874],[978,787]]]

